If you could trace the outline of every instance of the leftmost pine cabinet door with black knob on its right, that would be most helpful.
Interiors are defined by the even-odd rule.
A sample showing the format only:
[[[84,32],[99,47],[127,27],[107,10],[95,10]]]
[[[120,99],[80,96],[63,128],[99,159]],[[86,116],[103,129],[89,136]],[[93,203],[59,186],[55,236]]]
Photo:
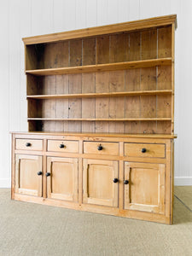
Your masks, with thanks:
[[[15,193],[42,196],[42,156],[15,155]]]

